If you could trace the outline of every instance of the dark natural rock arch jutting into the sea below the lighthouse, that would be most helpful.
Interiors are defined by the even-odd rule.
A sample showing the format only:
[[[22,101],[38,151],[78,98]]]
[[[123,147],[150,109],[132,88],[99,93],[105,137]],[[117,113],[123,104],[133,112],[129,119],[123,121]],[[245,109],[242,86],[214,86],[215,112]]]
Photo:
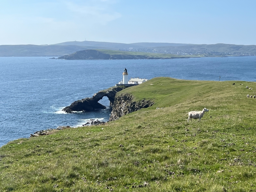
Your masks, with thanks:
[[[65,111],[66,113],[72,113],[72,111],[86,112],[93,111],[95,109],[106,109],[106,106],[101,105],[100,103],[98,103],[98,101],[100,101],[104,96],[106,96],[110,101],[110,106],[113,106],[116,93],[130,86],[133,85],[111,87],[109,89],[99,91],[92,97],[87,97],[85,99],[73,102],[70,106],[67,106],[64,109],[62,109],[62,111]]]

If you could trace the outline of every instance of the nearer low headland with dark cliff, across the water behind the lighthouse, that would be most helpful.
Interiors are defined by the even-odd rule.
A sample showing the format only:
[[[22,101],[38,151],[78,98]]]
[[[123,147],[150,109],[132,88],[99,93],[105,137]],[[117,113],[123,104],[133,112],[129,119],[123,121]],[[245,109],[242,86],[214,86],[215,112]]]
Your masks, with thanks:
[[[174,58],[188,58],[186,56],[180,57],[172,54],[158,54],[158,53],[144,53],[144,52],[124,52],[112,50],[84,50],[59,57],[58,59],[67,60],[97,60],[97,59],[174,59]]]

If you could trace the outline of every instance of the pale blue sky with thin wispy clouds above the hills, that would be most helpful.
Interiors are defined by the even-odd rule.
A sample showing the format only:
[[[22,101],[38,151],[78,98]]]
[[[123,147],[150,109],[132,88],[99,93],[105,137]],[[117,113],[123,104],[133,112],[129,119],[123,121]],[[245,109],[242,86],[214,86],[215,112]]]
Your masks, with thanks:
[[[255,0],[1,0],[0,45],[256,45]]]

